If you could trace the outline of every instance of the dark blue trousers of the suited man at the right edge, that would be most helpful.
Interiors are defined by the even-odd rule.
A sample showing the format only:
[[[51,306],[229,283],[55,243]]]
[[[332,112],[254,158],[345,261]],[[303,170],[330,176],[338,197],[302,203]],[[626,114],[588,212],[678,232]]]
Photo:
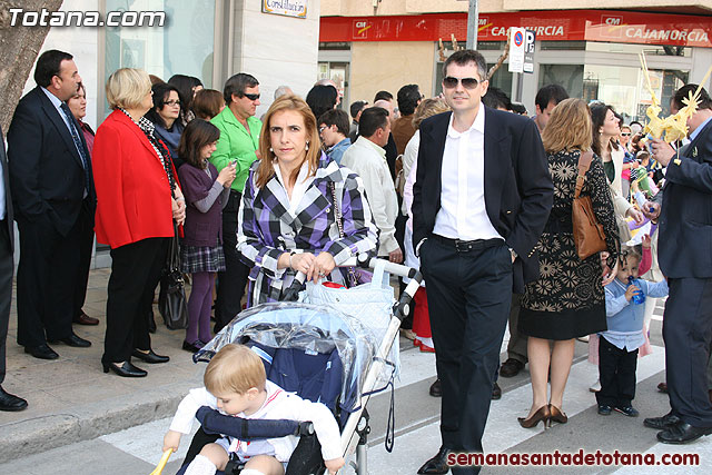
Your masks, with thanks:
[[[663,339],[670,406],[685,423],[712,427],[704,365],[712,337],[712,279],[670,278],[668,285]]]

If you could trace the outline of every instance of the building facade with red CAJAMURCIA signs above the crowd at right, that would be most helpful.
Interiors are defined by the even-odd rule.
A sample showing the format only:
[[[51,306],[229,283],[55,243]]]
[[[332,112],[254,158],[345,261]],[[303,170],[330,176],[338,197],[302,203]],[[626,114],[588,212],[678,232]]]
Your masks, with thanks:
[[[442,62],[467,39],[467,1],[342,0],[323,2],[319,75],[344,86],[346,102],[372,101],[417,83],[441,92]],[[513,75],[508,62],[491,85],[534,112],[537,89],[556,82],[572,97],[613,105],[626,120],[641,120],[650,105],[639,53],[644,53],[656,96],[700,81],[712,65],[712,3],[633,1],[479,1],[477,49],[494,65],[511,27],[535,32],[534,70]],[[521,76],[521,77],[520,77]],[[710,86],[708,82],[705,86]]]

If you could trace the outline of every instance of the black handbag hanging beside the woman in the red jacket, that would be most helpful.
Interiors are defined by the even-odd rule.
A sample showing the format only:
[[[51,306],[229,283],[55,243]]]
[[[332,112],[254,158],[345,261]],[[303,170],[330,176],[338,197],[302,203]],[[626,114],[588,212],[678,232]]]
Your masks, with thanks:
[[[174,224],[174,237],[170,238],[166,269],[161,285],[165,291],[158,298],[158,310],[164,316],[166,326],[171,330],[188,328],[188,304],[186,300],[185,281],[180,271],[180,245],[178,228]]]

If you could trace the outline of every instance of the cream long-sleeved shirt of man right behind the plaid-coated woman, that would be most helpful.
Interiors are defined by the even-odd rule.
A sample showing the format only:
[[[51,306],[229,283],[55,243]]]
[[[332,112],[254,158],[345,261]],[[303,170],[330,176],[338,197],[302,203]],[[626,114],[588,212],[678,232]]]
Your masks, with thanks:
[[[342,166],[354,170],[364,180],[366,198],[376,227],[380,230],[378,256],[386,256],[398,249],[396,240],[398,199],[386,162],[386,151],[383,147],[360,136],[344,152]]]

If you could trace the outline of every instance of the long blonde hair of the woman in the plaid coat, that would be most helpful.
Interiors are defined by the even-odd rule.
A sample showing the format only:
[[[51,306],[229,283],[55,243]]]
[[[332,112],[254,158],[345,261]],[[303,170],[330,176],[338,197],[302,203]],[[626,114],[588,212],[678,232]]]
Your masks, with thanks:
[[[294,110],[295,112],[299,112],[301,118],[304,119],[304,126],[306,127],[306,136],[307,136],[307,145],[308,150],[306,151],[304,160],[309,164],[309,176],[316,174],[316,169],[319,164],[319,157],[322,156],[322,150],[319,148],[319,130],[316,125],[316,118],[314,113],[312,113],[312,109],[304,99],[297,96],[281,96],[277,100],[275,100],[267,113],[265,115],[263,122],[263,130],[259,136],[259,167],[257,168],[257,187],[263,188],[267,185],[267,182],[275,175],[275,168],[273,166],[276,156],[275,152],[271,151],[271,139],[269,135],[269,122],[275,113],[281,112],[284,110]],[[297,180],[297,176],[299,175],[299,169],[301,168],[301,164],[293,171],[291,176],[288,178],[289,184],[294,185]]]

